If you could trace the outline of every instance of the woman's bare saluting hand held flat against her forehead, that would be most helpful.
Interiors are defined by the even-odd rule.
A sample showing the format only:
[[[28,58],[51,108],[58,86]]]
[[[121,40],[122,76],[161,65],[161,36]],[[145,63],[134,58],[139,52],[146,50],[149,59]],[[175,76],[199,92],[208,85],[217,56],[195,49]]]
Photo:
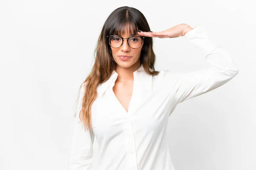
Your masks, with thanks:
[[[137,34],[144,37],[175,38],[184,36],[187,32],[189,32],[192,29],[193,28],[191,28],[187,24],[179,24],[177,26],[160,32],[143,32],[140,30],[141,32],[137,31]]]

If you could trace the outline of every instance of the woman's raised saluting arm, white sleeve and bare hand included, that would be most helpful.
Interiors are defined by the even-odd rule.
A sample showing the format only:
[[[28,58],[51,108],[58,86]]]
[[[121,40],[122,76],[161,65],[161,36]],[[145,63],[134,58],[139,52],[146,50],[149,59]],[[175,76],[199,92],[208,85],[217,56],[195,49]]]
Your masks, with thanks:
[[[202,48],[207,53],[205,59],[210,63],[207,69],[187,73],[163,71],[163,82],[172,85],[172,89],[166,90],[175,94],[176,105],[224,85],[239,73],[228,51],[209,41],[202,25],[191,28],[186,24],[179,24],[160,32],[138,32],[138,34],[158,38],[184,36],[193,45]]]

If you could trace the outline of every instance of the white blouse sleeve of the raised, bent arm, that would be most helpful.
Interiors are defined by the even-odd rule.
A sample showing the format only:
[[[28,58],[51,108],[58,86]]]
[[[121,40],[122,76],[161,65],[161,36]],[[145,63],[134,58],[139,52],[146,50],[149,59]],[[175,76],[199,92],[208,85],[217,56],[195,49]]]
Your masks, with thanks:
[[[190,30],[184,37],[207,52],[205,59],[210,63],[210,67],[198,71],[174,73],[174,77],[177,78],[176,104],[212,91],[229,82],[239,73],[228,51],[209,41],[202,25]]]

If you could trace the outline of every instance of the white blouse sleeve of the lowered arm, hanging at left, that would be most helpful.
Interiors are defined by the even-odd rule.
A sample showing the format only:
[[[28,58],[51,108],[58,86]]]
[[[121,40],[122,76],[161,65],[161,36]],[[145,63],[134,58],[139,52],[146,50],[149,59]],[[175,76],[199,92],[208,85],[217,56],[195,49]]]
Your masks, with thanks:
[[[94,133],[92,130],[85,130],[79,119],[84,87],[79,91],[79,110],[76,112],[73,123],[73,139],[70,149],[69,170],[91,170],[93,160]]]

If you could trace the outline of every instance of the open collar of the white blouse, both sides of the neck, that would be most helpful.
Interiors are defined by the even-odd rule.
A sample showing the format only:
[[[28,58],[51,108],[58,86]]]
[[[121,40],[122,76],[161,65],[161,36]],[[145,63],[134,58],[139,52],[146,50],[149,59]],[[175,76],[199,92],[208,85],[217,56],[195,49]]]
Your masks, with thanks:
[[[149,68],[150,71],[153,71],[151,68]],[[152,75],[149,75],[144,67],[143,64],[140,65],[140,68],[138,68],[136,71],[134,71],[134,84],[140,85],[140,88],[145,88],[145,90],[151,92],[152,90]],[[102,96],[104,92],[108,89],[108,87],[114,83],[117,79],[118,74],[114,70],[111,74],[111,77],[104,83],[99,85],[99,95]]]

